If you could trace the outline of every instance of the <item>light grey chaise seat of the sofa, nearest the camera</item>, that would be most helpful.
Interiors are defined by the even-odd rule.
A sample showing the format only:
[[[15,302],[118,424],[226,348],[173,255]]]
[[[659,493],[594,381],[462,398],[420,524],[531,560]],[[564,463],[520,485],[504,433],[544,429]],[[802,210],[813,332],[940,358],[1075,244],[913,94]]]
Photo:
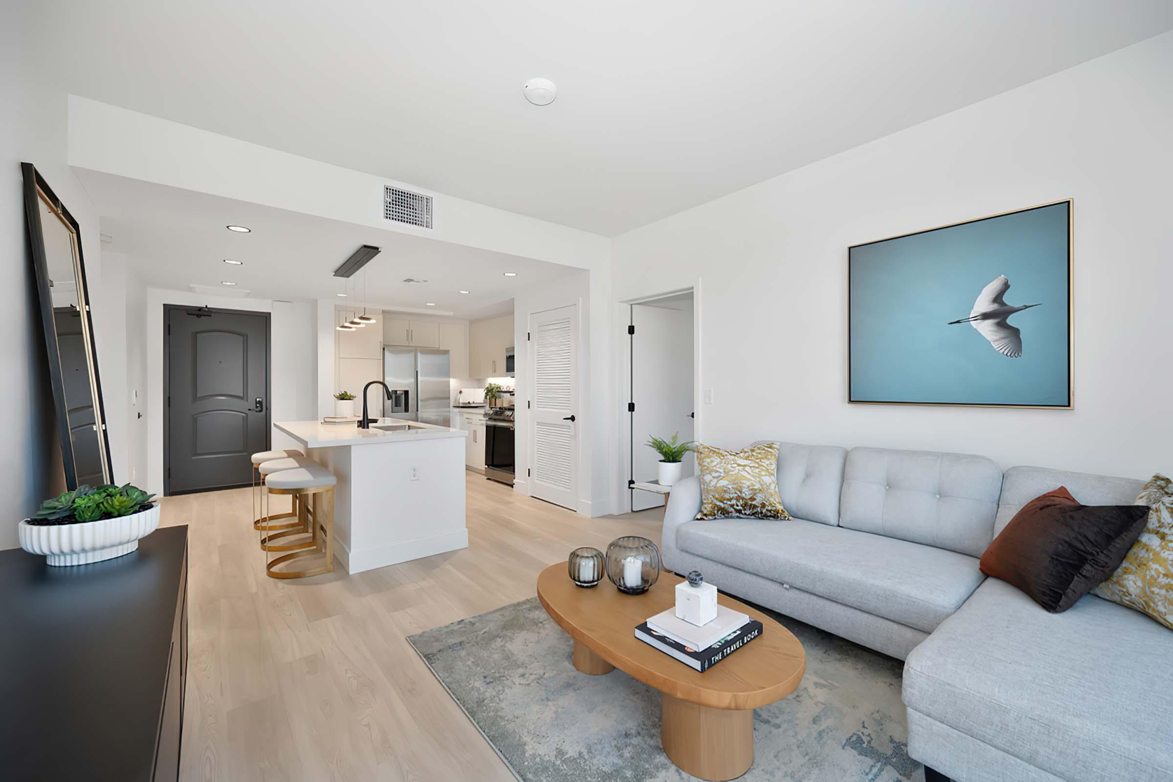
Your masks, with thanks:
[[[1173,778],[1173,632],[1087,596],[1051,614],[986,579],[913,650],[904,703],[1064,780]]]

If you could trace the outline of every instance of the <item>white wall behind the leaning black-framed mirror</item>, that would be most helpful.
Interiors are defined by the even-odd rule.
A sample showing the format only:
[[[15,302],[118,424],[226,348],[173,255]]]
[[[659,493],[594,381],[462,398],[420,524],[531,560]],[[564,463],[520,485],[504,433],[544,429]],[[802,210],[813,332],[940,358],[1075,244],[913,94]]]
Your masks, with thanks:
[[[0,4],[0,261],[6,274],[0,286],[0,429],[7,440],[0,449],[0,471],[7,476],[0,492],[0,549],[16,546],[16,523],[63,487],[41,312],[25,239],[22,161],[36,165],[81,225],[100,365],[111,338],[101,317],[106,301],[97,215],[66,165],[67,97],[40,82],[36,53],[26,49],[27,13],[27,4]],[[111,393],[106,383],[103,393]]]

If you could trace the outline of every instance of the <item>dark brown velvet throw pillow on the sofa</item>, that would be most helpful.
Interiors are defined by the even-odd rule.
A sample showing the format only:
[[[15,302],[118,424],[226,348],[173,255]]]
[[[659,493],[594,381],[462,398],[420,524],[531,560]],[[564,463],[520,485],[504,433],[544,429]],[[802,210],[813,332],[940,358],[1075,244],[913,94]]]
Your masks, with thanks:
[[[982,572],[1062,613],[1116,572],[1147,518],[1145,505],[1080,505],[1059,487],[1015,514],[982,555]]]

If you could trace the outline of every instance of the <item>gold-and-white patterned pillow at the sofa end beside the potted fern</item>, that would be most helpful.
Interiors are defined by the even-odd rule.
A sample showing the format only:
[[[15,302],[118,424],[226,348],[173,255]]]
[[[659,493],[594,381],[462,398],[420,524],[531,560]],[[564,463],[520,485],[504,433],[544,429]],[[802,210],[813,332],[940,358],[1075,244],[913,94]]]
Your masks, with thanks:
[[[778,443],[725,450],[697,446],[700,471],[699,519],[788,519],[778,495]]]

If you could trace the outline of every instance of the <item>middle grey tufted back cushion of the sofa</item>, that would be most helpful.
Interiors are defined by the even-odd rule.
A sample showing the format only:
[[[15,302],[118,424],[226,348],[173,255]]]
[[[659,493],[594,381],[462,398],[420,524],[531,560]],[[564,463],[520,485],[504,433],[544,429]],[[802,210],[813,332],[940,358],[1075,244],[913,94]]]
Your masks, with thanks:
[[[839,525],[981,557],[1001,491],[1002,470],[984,456],[853,448]]]

